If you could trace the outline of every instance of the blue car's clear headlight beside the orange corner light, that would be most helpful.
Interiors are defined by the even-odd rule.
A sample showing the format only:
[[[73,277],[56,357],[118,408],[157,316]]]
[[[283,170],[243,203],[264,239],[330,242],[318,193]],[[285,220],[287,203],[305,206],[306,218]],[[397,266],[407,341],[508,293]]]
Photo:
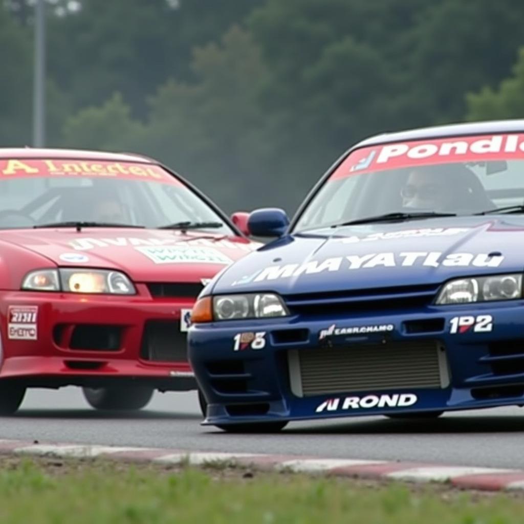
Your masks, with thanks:
[[[213,297],[213,317],[215,320],[271,318],[288,314],[286,305],[275,293]]]

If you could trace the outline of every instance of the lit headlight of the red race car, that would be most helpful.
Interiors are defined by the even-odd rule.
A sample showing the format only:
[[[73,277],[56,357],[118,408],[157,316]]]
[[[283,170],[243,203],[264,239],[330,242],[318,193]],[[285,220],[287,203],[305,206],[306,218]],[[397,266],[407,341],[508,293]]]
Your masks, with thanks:
[[[133,283],[120,271],[83,268],[31,271],[24,278],[22,289],[70,293],[136,293]]]

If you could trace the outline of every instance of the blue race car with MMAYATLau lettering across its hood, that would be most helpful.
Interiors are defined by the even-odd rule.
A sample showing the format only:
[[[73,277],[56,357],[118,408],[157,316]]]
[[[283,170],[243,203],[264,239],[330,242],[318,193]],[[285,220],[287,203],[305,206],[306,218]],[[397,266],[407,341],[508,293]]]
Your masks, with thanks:
[[[524,405],[524,120],[379,135],[192,311],[204,424]]]

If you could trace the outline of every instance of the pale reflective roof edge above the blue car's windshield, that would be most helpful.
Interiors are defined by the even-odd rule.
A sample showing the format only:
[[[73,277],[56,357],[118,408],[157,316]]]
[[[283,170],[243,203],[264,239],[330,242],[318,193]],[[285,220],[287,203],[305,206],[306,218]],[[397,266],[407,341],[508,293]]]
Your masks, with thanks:
[[[447,124],[442,126],[409,129],[396,133],[383,133],[366,138],[356,144],[354,147],[375,146],[391,142],[424,140],[429,138],[521,132],[524,132],[524,119],[470,122],[466,124]]]

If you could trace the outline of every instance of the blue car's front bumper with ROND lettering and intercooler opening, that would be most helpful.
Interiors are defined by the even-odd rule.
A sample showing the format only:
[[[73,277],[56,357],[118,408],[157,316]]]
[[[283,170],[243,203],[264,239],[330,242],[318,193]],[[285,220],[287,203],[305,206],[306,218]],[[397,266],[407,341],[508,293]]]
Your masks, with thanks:
[[[473,318],[475,324],[461,330],[456,319],[465,317]],[[319,333],[329,332],[331,326],[382,326],[384,330],[342,335],[331,330],[331,335],[319,340]],[[251,333],[244,340],[262,337],[264,346],[241,347],[243,333]],[[428,363],[432,344],[435,355],[439,354]],[[402,356],[403,347],[409,348],[409,359]],[[524,301],[430,306],[351,318],[315,315],[200,324],[191,327],[188,348],[209,403],[204,424],[524,405]],[[350,365],[350,374],[360,365],[361,361],[350,358],[357,353],[364,359],[363,375],[354,377],[358,387],[344,389],[345,372],[339,373],[339,361],[330,368],[330,359],[338,358],[340,366]],[[383,362],[382,377],[377,359]],[[374,385],[366,387],[370,370]],[[329,373],[333,373],[332,381]],[[301,389],[304,377],[308,390]]]

